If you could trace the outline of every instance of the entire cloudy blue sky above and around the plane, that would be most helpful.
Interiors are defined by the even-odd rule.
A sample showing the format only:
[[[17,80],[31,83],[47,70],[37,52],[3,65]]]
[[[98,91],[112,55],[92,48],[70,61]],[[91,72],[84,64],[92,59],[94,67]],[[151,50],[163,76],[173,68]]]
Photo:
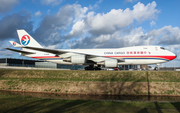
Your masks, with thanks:
[[[180,66],[179,0],[0,0],[0,58],[25,29],[52,49],[160,45],[178,55],[161,66]]]

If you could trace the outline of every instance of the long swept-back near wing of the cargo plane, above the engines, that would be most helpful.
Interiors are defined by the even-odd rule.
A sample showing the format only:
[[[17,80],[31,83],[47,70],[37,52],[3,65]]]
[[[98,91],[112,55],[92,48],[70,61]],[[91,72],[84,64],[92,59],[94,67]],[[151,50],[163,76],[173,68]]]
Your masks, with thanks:
[[[61,54],[65,54],[65,53],[81,54],[81,55],[86,55],[88,60],[93,60],[93,58],[102,57],[103,59],[117,59],[119,62],[124,62],[125,61],[124,59],[109,58],[109,57],[92,55],[92,54],[87,54],[87,53],[80,53],[80,52],[70,52],[70,51],[66,51],[66,50],[54,50],[54,49],[45,49],[45,48],[37,48],[37,47],[29,47],[29,46],[24,46],[23,48],[42,51],[42,52],[47,52],[47,53],[52,53],[52,54],[56,54],[56,55],[61,55]],[[103,59],[102,59],[102,61],[103,61]]]

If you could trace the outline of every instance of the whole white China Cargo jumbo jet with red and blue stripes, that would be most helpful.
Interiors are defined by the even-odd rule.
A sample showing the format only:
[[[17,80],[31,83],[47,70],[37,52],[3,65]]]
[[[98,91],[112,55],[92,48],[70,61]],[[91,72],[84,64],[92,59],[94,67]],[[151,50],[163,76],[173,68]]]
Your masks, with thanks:
[[[85,70],[100,70],[101,65],[109,68],[118,65],[160,64],[171,61],[176,55],[161,46],[134,46],[106,49],[47,49],[43,48],[25,30],[17,30],[20,44],[9,41],[20,55],[67,65],[86,65]]]

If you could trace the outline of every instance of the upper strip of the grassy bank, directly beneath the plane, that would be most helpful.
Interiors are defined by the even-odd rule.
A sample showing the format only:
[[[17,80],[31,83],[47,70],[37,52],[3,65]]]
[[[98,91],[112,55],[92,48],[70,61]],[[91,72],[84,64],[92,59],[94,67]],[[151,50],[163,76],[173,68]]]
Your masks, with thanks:
[[[0,69],[0,80],[180,82],[177,71],[62,71]]]

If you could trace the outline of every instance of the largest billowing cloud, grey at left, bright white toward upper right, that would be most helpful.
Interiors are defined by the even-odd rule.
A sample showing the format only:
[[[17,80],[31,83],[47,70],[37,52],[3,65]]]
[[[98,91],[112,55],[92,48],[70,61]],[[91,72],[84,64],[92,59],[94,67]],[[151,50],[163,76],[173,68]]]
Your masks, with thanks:
[[[102,1],[98,1],[98,3],[100,2]],[[53,39],[51,43],[48,41],[48,44],[60,43],[71,38],[81,37],[81,42],[90,41],[89,44],[93,43],[91,47],[95,47],[96,43],[108,42],[120,33],[121,37],[125,36],[122,33],[122,29],[127,28],[136,21],[141,23],[154,19],[160,12],[156,9],[156,2],[147,5],[139,2],[134,5],[132,10],[130,8],[126,8],[125,10],[112,9],[107,13],[96,14],[94,11],[88,12],[88,10],[87,7],[82,7],[77,3],[63,6],[56,14],[48,15],[42,20],[41,25],[36,30],[36,37],[48,37],[47,40]],[[67,31],[66,28],[71,26],[72,29]],[[66,33],[61,35],[60,33],[64,31]],[[140,34],[136,35],[136,37],[138,36],[140,37]],[[148,42],[145,43],[147,44]],[[104,45],[101,46],[104,47]],[[114,44],[114,46],[117,45]]]

